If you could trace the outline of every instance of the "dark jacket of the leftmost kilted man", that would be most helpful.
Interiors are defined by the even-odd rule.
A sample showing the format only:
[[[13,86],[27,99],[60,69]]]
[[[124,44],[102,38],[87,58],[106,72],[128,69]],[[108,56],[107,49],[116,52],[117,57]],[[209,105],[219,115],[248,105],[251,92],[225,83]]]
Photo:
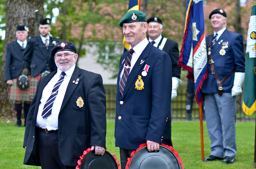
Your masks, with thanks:
[[[5,80],[11,80],[18,77],[22,70],[27,67],[30,71],[29,64],[23,61],[22,54],[24,49],[14,41],[7,45],[5,61]]]

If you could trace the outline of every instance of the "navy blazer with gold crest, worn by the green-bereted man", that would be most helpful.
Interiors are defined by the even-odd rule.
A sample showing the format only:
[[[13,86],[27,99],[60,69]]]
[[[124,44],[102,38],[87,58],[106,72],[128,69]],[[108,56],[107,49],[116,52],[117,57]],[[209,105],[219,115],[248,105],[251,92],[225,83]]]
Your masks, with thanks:
[[[161,143],[171,107],[171,59],[166,52],[148,43],[132,68],[121,96],[119,74],[127,54],[121,56],[117,78],[115,143],[119,148],[137,149],[146,140]],[[146,64],[150,68],[144,77],[141,72]],[[138,75],[144,82],[142,90],[135,89]]]

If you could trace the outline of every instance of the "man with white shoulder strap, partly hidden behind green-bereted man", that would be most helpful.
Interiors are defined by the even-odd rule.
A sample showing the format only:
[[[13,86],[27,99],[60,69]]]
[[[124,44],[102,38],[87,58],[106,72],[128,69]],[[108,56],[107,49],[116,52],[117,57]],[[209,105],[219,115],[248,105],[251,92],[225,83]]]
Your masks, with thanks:
[[[162,36],[163,26],[162,20],[158,17],[151,17],[147,20],[147,34],[153,46],[165,51],[172,60],[172,100],[177,97],[178,86],[182,83],[181,68],[177,65],[180,58],[178,43]],[[172,146],[171,141],[171,114],[168,115],[165,134],[163,135],[163,143]]]

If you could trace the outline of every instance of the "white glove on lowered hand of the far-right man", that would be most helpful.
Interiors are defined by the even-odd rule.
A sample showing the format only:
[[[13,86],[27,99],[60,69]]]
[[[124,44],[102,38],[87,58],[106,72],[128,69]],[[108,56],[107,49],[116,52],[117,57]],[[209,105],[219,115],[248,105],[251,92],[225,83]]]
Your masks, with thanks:
[[[244,72],[236,72],[234,75],[234,84],[231,89],[231,96],[237,96],[242,93],[242,85],[244,82]]]

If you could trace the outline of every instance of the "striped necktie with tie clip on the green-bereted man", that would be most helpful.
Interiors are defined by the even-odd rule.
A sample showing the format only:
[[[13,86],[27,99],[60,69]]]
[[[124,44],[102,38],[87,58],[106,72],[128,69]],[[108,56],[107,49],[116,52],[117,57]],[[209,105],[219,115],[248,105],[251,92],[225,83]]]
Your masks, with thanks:
[[[131,57],[132,57],[132,54],[134,53],[134,50],[133,49],[130,49],[129,52],[128,52],[128,55],[126,57],[126,60],[125,60],[125,69],[124,69],[124,73],[123,73],[123,76],[120,80],[120,83],[119,83],[119,91],[121,93],[121,95],[123,95],[123,91],[125,89],[125,84],[126,84],[126,81],[127,81],[127,78],[129,76],[129,72],[130,72],[130,69],[131,69]]]

